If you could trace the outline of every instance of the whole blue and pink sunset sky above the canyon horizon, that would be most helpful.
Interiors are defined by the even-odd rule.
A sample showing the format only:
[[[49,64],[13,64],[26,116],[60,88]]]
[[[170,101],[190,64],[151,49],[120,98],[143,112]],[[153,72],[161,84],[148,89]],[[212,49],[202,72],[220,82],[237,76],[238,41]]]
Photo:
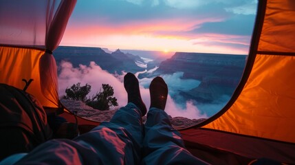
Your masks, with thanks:
[[[252,0],[78,1],[61,45],[248,54]]]

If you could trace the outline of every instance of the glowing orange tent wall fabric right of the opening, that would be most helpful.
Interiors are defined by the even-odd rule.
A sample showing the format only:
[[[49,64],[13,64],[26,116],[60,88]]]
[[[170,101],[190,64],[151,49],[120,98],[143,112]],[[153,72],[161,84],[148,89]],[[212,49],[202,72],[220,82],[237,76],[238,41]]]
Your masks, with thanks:
[[[262,24],[261,34],[253,36],[259,39],[250,54],[254,63],[241,94],[203,128],[295,142],[294,7],[294,1],[267,1],[264,20],[257,22]]]

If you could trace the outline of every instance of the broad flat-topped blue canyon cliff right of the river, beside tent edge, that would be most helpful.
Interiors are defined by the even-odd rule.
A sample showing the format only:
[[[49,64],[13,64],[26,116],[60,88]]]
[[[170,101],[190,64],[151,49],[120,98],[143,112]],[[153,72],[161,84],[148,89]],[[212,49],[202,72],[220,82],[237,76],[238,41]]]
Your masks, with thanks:
[[[197,102],[214,102],[223,95],[232,95],[243,74],[246,57],[232,54],[176,52],[171,58],[162,61],[157,71],[149,76],[184,72],[182,78],[196,79],[201,81],[201,84],[180,94]]]

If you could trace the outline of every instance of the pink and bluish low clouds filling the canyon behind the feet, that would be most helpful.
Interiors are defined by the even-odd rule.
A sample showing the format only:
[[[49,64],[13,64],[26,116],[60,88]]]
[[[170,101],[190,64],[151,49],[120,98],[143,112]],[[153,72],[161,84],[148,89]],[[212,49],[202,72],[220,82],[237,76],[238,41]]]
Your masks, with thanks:
[[[100,90],[102,84],[107,83],[113,87],[114,96],[118,99],[119,107],[127,104],[127,92],[125,91],[123,84],[124,75],[126,73],[122,72],[121,74],[116,75],[109,74],[94,62],[91,62],[89,66],[80,65],[79,67],[74,68],[72,63],[63,61],[59,67],[61,69],[61,73],[58,75],[59,96],[64,96],[65,89],[76,83],[81,83],[81,85],[88,83],[91,85],[91,93],[89,96],[92,96],[96,94],[96,91]],[[181,72],[163,76],[168,84],[168,88],[171,89],[170,92],[175,94],[177,89],[188,90],[199,85],[197,80],[181,80],[181,76]],[[140,80],[140,92],[142,100],[147,108],[149,108],[150,105],[149,84],[151,83],[151,80],[152,78],[143,78]],[[175,83],[172,83],[173,80]],[[173,117],[183,116],[190,119],[208,118],[208,115],[206,115],[206,113],[201,113],[201,111],[193,105],[193,102],[188,101],[185,103],[185,106],[180,106],[175,103],[175,100],[173,100],[170,95],[171,93],[168,95],[165,109],[168,115]]]

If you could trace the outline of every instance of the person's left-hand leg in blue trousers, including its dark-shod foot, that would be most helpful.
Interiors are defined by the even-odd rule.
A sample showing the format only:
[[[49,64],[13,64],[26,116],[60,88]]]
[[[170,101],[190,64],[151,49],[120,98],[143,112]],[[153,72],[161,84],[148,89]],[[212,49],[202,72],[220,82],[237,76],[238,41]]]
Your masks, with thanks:
[[[139,164],[142,155],[142,115],[139,84],[133,74],[124,77],[128,104],[110,122],[102,122],[74,140],[50,140],[23,157],[19,164]]]

